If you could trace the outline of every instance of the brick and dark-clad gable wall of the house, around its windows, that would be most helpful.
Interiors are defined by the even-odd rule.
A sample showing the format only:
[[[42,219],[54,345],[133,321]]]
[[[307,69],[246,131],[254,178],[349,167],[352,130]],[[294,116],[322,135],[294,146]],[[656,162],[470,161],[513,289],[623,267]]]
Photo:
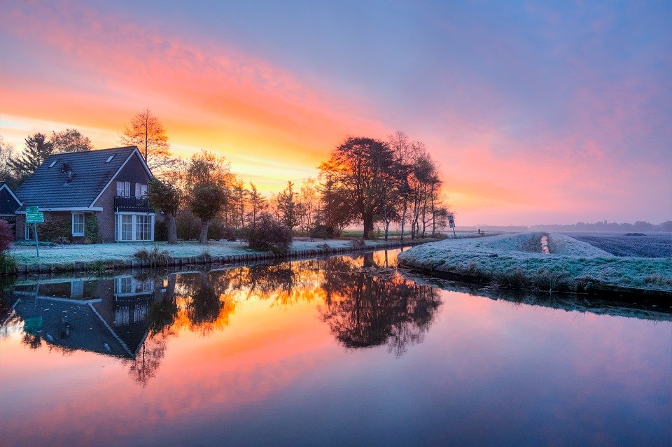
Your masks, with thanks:
[[[135,183],[148,184],[149,176],[143,168],[142,162],[134,155],[93,204],[93,206],[102,206],[103,208],[103,211],[96,213],[96,216],[100,237],[104,243],[114,242],[114,197],[117,194],[118,181],[131,182],[131,195],[133,195],[135,194]]]

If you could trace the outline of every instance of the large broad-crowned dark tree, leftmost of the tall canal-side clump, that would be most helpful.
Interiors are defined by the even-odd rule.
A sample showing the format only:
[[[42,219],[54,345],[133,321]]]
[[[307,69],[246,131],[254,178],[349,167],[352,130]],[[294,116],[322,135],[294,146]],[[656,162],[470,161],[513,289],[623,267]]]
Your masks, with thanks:
[[[393,151],[384,141],[349,137],[320,166],[333,182],[332,193],[349,204],[353,218],[362,220],[365,239],[370,239],[381,215],[385,181],[393,165]]]

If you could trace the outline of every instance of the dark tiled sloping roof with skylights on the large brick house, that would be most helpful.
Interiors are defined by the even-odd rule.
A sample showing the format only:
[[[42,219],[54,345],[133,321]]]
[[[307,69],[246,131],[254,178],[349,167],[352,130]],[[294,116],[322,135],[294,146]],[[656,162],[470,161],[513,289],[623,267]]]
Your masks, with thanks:
[[[23,206],[90,207],[134,152],[142,159],[136,146],[52,154],[16,195]],[[106,162],[111,155],[114,157]]]

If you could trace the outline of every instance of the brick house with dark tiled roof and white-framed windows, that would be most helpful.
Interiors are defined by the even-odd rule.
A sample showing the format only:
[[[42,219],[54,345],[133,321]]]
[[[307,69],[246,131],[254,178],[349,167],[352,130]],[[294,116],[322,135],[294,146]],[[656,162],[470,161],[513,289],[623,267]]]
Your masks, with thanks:
[[[64,225],[73,243],[153,241],[155,213],[146,197],[151,178],[136,146],[52,154],[16,191],[22,203],[17,239],[33,236],[25,213],[37,206],[45,224]],[[95,225],[89,222],[97,223],[98,234],[90,233]],[[38,224],[38,236],[45,224]]]

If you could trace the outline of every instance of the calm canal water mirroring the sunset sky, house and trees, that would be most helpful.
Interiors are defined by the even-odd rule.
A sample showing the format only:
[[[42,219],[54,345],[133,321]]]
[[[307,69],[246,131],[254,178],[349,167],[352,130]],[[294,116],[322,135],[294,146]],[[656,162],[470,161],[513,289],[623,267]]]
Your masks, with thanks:
[[[396,253],[7,285],[1,444],[671,444],[669,306]]]

